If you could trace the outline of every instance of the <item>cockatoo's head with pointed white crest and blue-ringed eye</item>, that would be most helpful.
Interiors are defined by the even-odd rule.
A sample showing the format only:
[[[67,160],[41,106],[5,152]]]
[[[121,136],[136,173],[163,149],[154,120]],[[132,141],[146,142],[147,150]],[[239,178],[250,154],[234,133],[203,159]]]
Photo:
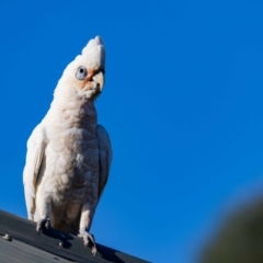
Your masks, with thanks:
[[[59,85],[80,98],[95,99],[103,89],[105,49],[100,36],[91,39],[64,71]],[[61,88],[62,88],[61,87]]]

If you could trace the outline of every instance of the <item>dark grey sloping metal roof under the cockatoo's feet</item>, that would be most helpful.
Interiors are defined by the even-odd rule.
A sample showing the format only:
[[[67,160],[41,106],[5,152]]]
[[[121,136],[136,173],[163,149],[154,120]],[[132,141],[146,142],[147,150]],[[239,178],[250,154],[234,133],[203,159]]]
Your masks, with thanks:
[[[0,210],[0,262],[147,262],[98,243],[98,253],[93,258],[81,238],[54,228],[38,236],[35,228],[34,221]],[[11,240],[3,239],[4,235],[11,236]]]

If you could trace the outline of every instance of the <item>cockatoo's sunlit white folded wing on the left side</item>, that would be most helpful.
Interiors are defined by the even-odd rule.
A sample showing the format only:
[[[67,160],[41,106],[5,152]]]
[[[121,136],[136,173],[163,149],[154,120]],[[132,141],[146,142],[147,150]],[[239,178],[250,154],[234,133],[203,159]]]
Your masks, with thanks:
[[[30,219],[34,219],[36,182],[45,151],[45,133],[42,124],[35,127],[27,140],[27,152],[23,172],[24,194]]]

